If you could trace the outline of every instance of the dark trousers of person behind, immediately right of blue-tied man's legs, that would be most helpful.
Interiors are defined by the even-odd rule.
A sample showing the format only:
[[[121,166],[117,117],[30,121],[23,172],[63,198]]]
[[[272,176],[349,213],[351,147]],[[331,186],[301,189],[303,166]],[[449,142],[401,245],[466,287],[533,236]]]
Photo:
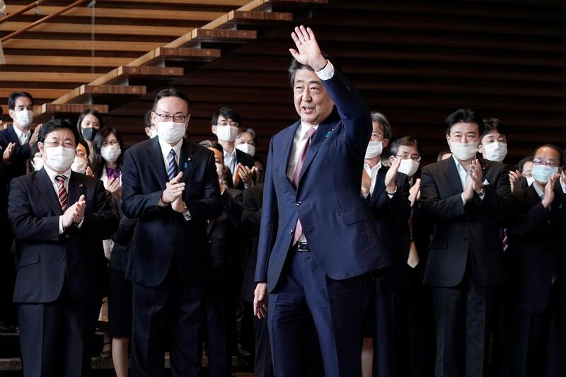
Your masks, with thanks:
[[[208,376],[230,376],[231,357],[228,352],[226,317],[226,268],[209,273],[204,286],[204,321],[206,325]]]

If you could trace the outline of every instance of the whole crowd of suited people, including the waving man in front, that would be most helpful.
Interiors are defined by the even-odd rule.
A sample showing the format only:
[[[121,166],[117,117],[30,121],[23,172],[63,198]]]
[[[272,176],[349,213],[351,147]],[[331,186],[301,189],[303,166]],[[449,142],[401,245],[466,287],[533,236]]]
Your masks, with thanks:
[[[96,110],[0,131],[0,330],[25,376],[566,376],[564,153],[505,164],[505,124],[460,109],[422,166],[394,127],[291,33],[300,119],[267,163],[236,110],[195,143],[190,99],[160,91],[125,149]],[[140,126],[140,133],[141,126]],[[13,305],[11,304],[13,303]]]

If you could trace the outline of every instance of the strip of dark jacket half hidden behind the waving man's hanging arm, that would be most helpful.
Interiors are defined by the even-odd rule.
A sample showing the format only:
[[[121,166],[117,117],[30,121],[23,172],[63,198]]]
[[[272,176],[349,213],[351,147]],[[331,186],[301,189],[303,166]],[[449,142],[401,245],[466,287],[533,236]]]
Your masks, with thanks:
[[[254,274],[258,262],[258,236],[260,235],[263,183],[243,191],[242,230],[250,238],[251,250],[243,272],[241,298],[253,302]]]

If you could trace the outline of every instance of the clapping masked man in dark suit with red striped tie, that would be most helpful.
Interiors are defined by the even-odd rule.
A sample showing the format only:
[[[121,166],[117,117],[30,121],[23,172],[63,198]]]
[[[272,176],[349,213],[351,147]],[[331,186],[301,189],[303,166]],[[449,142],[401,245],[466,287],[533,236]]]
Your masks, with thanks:
[[[47,122],[39,134],[44,168],[11,182],[24,376],[88,376],[91,337],[103,298],[102,240],[118,225],[102,182],[71,172],[76,129]]]

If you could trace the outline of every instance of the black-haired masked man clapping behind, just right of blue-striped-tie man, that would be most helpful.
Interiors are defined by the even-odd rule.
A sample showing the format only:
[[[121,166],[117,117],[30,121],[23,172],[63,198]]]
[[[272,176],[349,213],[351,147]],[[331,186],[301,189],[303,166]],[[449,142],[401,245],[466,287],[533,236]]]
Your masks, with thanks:
[[[236,137],[242,127],[242,118],[231,108],[221,108],[212,115],[212,133],[224,149],[224,166],[232,174],[234,187],[243,190],[253,185],[253,156],[236,148]]]

